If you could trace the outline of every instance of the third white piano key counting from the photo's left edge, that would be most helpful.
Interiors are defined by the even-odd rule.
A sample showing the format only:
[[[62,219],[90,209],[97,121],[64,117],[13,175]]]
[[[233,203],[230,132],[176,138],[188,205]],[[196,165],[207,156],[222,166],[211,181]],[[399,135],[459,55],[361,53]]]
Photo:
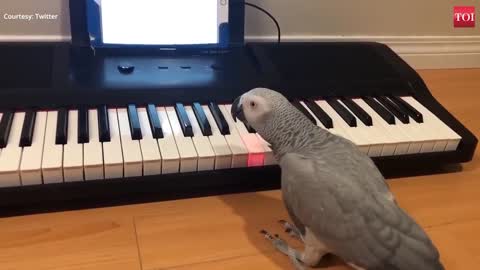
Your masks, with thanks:
[[[47,112],[47,127],[42,157],[43,183],[63,182],[63,145],[55,144],[57,131],[57,111]]]

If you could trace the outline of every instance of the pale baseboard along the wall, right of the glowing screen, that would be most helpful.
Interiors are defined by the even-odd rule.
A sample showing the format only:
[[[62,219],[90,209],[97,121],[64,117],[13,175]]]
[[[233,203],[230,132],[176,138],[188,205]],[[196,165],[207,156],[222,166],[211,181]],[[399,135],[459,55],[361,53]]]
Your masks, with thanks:
[[[276,36],[247,36],[276,41]],[[480,68],[480,36],[283,36],[283,42],[374,41],[392,48],[415,69]]]

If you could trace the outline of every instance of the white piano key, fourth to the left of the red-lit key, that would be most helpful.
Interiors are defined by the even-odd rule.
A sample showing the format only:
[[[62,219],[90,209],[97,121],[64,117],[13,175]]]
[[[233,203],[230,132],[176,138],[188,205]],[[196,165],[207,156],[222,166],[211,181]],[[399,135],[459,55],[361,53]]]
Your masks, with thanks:
[[[173,107],[166,107],[165,111],[167,112],[173,137],[177,144],[178,153],[180,154],[180,172],[194,172],[197,170],[198,154],[193,145],[192,138],[183,135],[175,109]]]

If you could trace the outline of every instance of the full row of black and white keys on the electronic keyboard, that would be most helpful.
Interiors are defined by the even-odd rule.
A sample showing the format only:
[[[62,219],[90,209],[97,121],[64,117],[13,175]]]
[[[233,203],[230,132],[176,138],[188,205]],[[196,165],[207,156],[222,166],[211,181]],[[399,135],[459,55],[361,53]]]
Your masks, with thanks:
[[[454,151],[461,137],[410,96],[296,100],[371,157]],[[274,165],[231,104],[0,112],[0,187]]]

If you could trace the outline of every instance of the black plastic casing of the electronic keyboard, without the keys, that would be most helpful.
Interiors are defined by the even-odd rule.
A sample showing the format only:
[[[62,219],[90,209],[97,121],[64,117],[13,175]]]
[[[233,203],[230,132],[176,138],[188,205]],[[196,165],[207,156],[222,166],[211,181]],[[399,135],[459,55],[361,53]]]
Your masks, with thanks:
[[[370,42],[249,43],[228,52],[140,53],[73,49],[68,43],[0,45],[0,110],[231,103],[254,87],[288,98],[411,95],[462,141],[456,151],[373,158],[382,173],[472,159],[477,139],[387,46]],[[132,64],[132,74],[118,71]],[[408,172],[406,173],[408,175]],[[19,215],[279,188],[277,166],[0,188],[0,215]]]

